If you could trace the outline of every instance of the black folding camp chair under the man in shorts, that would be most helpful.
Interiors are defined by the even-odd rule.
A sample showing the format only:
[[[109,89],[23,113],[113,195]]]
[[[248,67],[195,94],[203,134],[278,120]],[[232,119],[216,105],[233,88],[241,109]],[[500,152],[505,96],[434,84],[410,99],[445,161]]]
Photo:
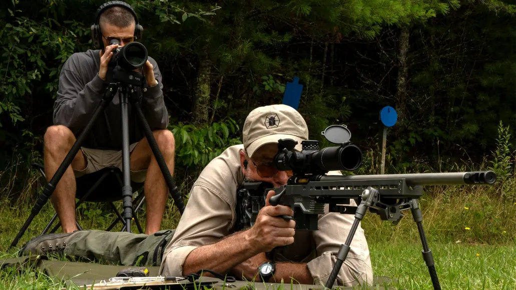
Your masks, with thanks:
[[[44,166],[42,164],[33,163],[35,168],[39,170],[42,177],[45,179],[46,176],[44,172]],[[75,209],[77,209],[80,204],[84,201],[89,202],[107,202],[111,209],[115,212],[116,218],[111,223],[111,225],[106,229],[106,231],[110,231],[114,228],[118,222],[122,223],[123,227],[120,231],[125,230],[125,222],[122,217],[122,213],[120,213],[114,201],[123,200],[122,196],[122,172],[118,167],[108,166],[97,172],[90,173],[75,179],[76,181],[76,193],[75,197],[79,199],[77,203],[75,203]],[[145,196],[143,194],[143,183],[137,183],[131,181],[131,186],[133,189],[138,189],[135,192],[138,192],[138,196],[133,200],[133,218],[140,233],[143,233],[143,229],[141,228],[140,221],[138,220],[138,216],[136,213],[141,209],[143,202],[145,201]],[[133,193],[134,194],[134,193]],[[135,206],[136,205],[136,206]],[[46,234],[49,229],[52,227],[52,224],[57,218],[57,212],[54,214],[50,222],[46,225],[45,229],[41,233],[41,235]],[[77,228],[82,230],[83,228],[79,225],[77,220],[75,221]],[[50,233],[54,233],[59,227],[61,223],[58,223]]]

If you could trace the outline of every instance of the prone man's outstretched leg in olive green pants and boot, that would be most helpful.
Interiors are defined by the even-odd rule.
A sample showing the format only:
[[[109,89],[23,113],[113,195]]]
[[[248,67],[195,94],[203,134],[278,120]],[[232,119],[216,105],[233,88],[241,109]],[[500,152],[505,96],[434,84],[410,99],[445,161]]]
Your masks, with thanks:
[[[30,240],[22,250],[25,255],[65,254],[108,265],[159,266],[174,231],[163,230],[151,235],[100,230],[46,234]]]

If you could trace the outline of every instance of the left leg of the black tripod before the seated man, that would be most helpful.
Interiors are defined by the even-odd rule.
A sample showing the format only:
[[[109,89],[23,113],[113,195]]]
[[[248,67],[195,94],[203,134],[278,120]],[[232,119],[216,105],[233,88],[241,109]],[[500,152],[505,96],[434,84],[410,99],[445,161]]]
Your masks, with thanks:
[[[66,170],[68,169],[68,166],[72,163],[72,160],[75,158],[75,155],[77,155],[77,152],[80,149],[80,146],[83,144],[84,139],[87,137],[87,135],[90,133],[91,128],[93,127],[93,124],[95,124],[96,119],[99,117],[100,113],[104,111],[104,109],[107,107],[109,103],[111,103],[111,100],[115,96],[115,93],[117,92],[117,84],[109,84],[107,87],[104,96],[102,97],[102,100],[98,107],[96,107],[95,111],[93,112],[93,115],[90,118],[90,121],[88,124],[86,124],[86,127],[84,130],[79,134],[79,137],[73,144],[70,151],[68,151],[65,159],[61,162],[59,167],[56,170],[56,173],[54,176],[52,176],[52,179],[45,185],[45,188],[43,189],[43,192],[38,196],[38,200],[36,201],[36,204],[34,204],[34,207],[30,211],[30,215],[25,221],[25,224],[23,224],[22,228],[20,229],[20,232],[16,235],[14,240],[12,241],[11,245],[9,246],[9,249],[16,246],[18,242],[20,241],[20,238],[23,236],[27,228],[29,227],[30,223],[32,223],[33,219],[36,217],[36,215],[39,214],[43,206],[45,205],[46,201],[49,200],[50,196],[56,189],[56,185],[65,174]]]

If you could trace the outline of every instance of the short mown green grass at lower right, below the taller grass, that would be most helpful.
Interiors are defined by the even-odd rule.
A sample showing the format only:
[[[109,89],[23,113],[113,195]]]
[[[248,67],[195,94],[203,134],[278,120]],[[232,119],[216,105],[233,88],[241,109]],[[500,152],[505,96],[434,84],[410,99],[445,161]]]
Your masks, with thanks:
[[[429,245],[443,289],[515,289],[514,245]],[[375,276],[395,278],[398,289],[431,289],[421,244],[370,243]]]

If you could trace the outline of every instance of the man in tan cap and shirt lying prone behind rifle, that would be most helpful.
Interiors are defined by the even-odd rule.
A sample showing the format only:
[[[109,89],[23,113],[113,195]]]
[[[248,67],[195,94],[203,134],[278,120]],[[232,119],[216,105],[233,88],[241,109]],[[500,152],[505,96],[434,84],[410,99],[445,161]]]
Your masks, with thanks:
[[[274,116],[272,120],[271,116]],[[270,121],[270,122],[268,122]],[[64,252],[79,258],[123,265],[160,266],[162,276],[184,276],[200,269],[261,281],[260,265],[276,263],[268,282],[326,283],[336,254],[354,220],[352,214],[326,213],[317,231],[295,231],[295,222],[278,215],[293,215],[285,206],[265,206],[249,229],[235,231],[237,188],[244,181],[286,184],[287,172],[268,166],[277,153],[278,140],[308,139],[301,115],[291,107],[272,105],[253,110],[243,128],[243,145],[226,149],[202,171],[190,192],[178,228],[153,235],[126,232],[77,231],[44,235],[29,241],[24,254]],[[300,146],[297,147],[300,149]],[[340,174],[330,172],[329,174]],[[268,198],[273,191],[268,193]],[[351,201],[356,206],[354,201]],[[61,245],[56,249],[55,245]],[[62,246],[65,246],[64,248]],[[281,250],[272,250],[286,246]],[[272,250],[272,251],[271,251]],[[107,261],[106,261],[107,260]],[[359,227],[336,283],[372,284],[373,270],[364,230]]]

